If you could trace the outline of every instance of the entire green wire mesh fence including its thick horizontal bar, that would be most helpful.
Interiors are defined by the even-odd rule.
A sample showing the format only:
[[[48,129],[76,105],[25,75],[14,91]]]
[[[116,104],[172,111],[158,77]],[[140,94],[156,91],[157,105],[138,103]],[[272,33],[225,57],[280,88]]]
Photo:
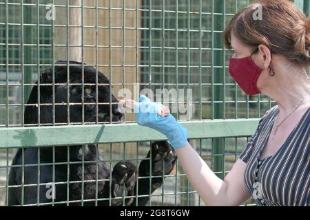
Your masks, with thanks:
[[[0,205],[203,205],[165,137],[133,124],[117,98],[159,89],[225,177],[274,104],[227,72],[223,29],[250,2],[0,0]]]

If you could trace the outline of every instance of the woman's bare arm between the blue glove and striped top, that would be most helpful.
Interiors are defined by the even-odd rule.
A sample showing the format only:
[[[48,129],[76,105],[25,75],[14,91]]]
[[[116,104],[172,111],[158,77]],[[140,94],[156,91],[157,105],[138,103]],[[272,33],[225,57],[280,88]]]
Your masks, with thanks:
[[[247,164],[238,159],[224,180],[217,177],[198,153],[187,144],[176,149],[187,178],[206,206],[239,206],[251,195],[244,183]]]

